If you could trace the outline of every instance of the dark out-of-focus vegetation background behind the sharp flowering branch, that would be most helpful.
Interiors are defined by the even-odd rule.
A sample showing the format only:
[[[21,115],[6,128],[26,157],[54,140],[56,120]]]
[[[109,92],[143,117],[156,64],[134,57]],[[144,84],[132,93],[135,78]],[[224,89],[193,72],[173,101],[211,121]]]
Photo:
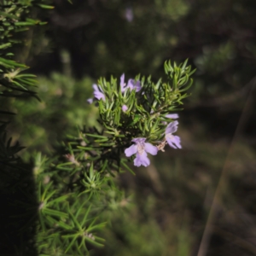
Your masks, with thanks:
[[[26,146],[24,160],[52,153],[77,126],[96,125],[96,107],[86,100],[100,76],[158,79],[167,59],[189,58],[197,69],[179,113],[183,149],[168,148],[136,176],[120,174],[129,200],[109,214],[106,246],[92,255],[256,255],[255,1],[53,5],[34,14],[48,25],[32,28],[17,47],[17,60],[38,75],[42,102],[6,100],[19,113],[9,131]]]

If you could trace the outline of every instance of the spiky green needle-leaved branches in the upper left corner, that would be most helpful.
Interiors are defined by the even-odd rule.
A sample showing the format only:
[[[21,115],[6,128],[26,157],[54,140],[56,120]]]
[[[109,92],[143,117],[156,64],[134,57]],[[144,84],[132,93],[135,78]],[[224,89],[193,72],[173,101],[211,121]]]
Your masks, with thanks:
[[[30,26],[41,26],[45,22],[32,19],[32,8],[52,9],[44,0],[1,1],[0,3],[0,96],[27,97],[35,96],[32,90],[37,81],[35,75],[23,73],[26,64],[15,61],[14,44],[24,43],[20,32],[29,30]]]

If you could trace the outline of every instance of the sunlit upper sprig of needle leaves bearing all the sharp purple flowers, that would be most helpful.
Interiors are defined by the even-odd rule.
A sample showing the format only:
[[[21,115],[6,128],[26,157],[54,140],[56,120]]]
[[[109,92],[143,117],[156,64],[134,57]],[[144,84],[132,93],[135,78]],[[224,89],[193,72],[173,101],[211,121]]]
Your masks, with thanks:
[[[150,77],[137,76],[125,84],[125,74],[119,82],[113,78],[109,82],[99,79],[93,90],[103,130],[97,135],[101,139],[85,142],[84,149],[91,150],[98,143],[96,148],[101,158],[111,163],[111,169],[114,162],[116,166],[125,165],[123,152],[126,157],[136,155],[132,156],[135,166],[148,166],[147,153],[155,155],[159,150],[164,151],[166,143],[172,148],[182,148],[180,137],[172,135],[178,125],[174,121],[178,114],[172,112],[179,110],[192,84],[189,76],[194,71],[186,65],[187,61],[179,66],[174,63],[172,67],[171,61],[166,61],[166,81],[159,79],[157,83]]]

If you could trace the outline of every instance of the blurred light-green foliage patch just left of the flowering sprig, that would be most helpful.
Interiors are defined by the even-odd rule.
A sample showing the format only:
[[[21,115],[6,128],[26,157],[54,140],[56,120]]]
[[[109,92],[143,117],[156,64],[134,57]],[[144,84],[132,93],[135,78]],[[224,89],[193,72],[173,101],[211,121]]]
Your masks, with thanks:
[[[52,73],[50,78],[38,78],[41,102],[13,102],[12,111],[19,114],[13,119],[12,132],[27,147],[22,152],[26,160],[35,149],[53,153],[53,147],[68,134],[75,134],[77,127],[96,125],[97,109],[86,102],[92,95],[92,82]]]

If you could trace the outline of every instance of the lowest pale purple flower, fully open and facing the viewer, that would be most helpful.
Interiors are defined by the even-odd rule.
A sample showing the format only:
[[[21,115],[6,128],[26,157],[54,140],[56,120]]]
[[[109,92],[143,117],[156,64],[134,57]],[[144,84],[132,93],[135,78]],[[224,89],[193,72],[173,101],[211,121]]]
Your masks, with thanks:
[[[137,137],[131,140],[131,147],[125,149],[125,155],[130,157],[132,154],[137,154],[134,160],[134,166],[149,166],[150,160],[148,159],[148,153],[157,154],[158,148],[150,143],[145,143],[145,137]]]

